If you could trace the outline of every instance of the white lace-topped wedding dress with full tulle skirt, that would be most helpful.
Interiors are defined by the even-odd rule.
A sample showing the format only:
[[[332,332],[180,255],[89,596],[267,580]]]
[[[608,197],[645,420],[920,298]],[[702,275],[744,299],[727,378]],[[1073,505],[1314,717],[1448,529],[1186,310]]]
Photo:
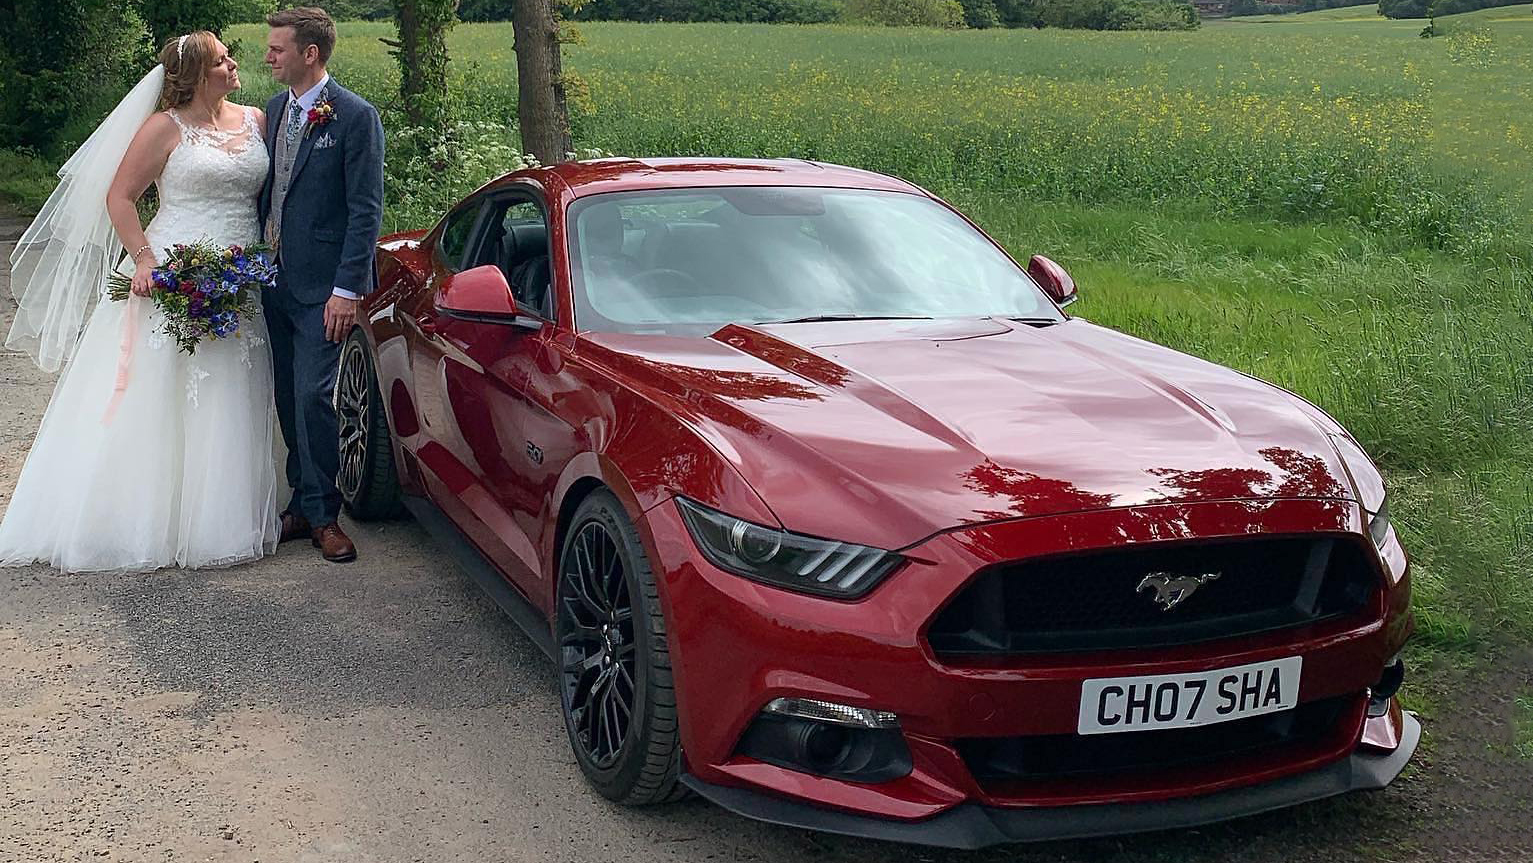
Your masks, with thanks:
[[[176,118],[181,143],[146,228],[178,242],[261,239],[267,150],[256,112],[230,133]],[[228,566],[277,544],[271,349],[259,308],[187,356],[153,302],[101,299],[54,389],[0,521],[0,564],[64,572]],[[129,357],[117,397],[118,366]]]

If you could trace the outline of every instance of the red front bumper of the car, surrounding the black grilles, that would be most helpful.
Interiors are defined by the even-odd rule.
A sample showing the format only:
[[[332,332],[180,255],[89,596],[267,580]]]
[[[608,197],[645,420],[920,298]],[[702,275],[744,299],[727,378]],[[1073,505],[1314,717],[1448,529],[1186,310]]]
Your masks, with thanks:
[[[1407,564],[1400,553],[1386,555],[1392,559],[1381,564],[1377,604],[1348,619],[1154,650],[972,662],[940,658],[926,641],[926,627],[975,572],[995,561],[1167,537],[1358,535],[1363,529],[1355,504],[1325,500],[1168,504],[993,523],[904,549],[911,563],[857,602],[789,593],[714,569],[671,503],[645,514],[641,535],[662,582],[693,788],[766,820],[891,838],[957,823],[967,825],[960,832],[975,838],[935,842],[984,845],[1009,835],[1044,838],[1200,823],[1381,786],[1409,759],[1413,737],[1406,747],[1398,710],[1364,719],[1363,702],[1409,635],[1410,613]],[[1294,655],[1303,656],[1302,705],[1328,699],[1349,705],[1346,722],[1303,747],[1026,783],[980,780],[960,751],[964,740],[1073,734],[1085,679],[1197,673]],[[783,696],[897,714],[911,771],[889,782],[860,783],[742,756],[747,728],[770,701]],[[1386,766],[1363,771],[1349,766],[1354,762]],[[1380,780],[1384,773],[1387,779]],[[1259,791],[1263,788],[1271,791]],[[1206,814],[1213,802],[1226,803]],[[1085,814],[1098,811],[1102,814]],[[1128,811],[1145,814],[1119,822]],[[1078,814],[1059,820],[1061,812]],[[1205,814],[1187,820],[1193,812]],[[978,829],[977,823],[995,826]],[[855,825],[881,826],[869,832],[851,829]],[[1107,825],[1118,826],[1102,829]],[[944,831],[934,835],[947,835]],[[912,835],[909,842],[932,840]]]

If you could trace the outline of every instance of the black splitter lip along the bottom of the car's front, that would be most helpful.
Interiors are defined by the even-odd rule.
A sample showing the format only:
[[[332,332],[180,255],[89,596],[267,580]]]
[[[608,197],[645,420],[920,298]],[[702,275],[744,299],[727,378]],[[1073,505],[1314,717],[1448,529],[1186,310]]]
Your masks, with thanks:
[[[1328,766],[1262,785],[1147,803],[1093,803],[1033,809],[961,803],[920,822],[894,822],[823,809],[744,788],[710,785],[691,774],[684,776],[682,783],[704,799],[759,822],[911,845],[973,849],[1010,842],[1193,828],[1323,800],[1348,791],[1377,791],[1400,776],[1420,740],[1421,725],[1413,716],[1404,714],[1400,745],[1392,753],[1358,750],[1351,757]]]

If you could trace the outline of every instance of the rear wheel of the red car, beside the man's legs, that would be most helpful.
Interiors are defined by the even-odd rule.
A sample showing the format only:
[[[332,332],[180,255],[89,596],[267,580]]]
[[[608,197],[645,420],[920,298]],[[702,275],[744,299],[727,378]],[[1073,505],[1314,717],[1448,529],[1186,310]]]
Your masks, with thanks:
[[[396,518],[403,510],[394,443],[379,395],[373,351],[362,330],[353,330],[340,348],[336,372],[336,425],[340,435],[340,472],[336,487],[346,510],[360,521]]]

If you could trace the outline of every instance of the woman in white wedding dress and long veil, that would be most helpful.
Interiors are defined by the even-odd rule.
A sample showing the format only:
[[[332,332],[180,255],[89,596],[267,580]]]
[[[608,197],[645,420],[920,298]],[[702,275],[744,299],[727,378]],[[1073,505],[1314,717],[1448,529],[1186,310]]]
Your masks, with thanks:
[[[156,66],[60,169],[12,262],[6,346],[63,376],[0,521],[0,564],[64,572],[212,567],[276,549],[271,353],[259,311],[187,356],[162,333],[152,270],[179,242],[261,239],[264,116],[210,32]],[[158,104],[158,110],[156,110]],[[159,212],[135,202],[153,182]],[[123,254],[132,294],[92,296]]]

